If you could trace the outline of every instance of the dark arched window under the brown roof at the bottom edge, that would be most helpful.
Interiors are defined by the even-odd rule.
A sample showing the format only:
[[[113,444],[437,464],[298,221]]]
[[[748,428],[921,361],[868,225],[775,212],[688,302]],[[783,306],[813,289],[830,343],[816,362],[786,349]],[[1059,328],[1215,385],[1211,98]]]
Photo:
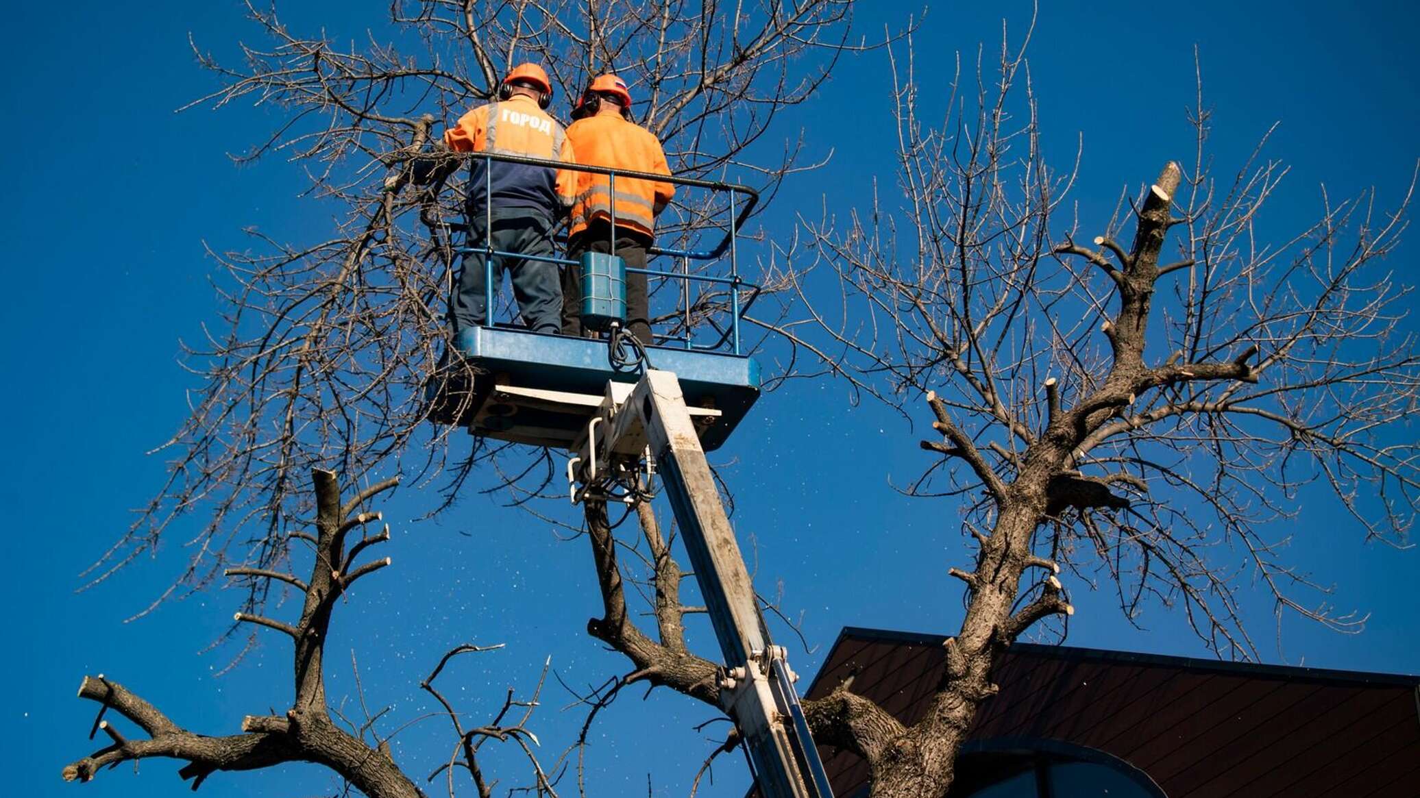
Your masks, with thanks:
[[[1129,763],[1056,740],[973,741],[956,770],[946,798],[1167,798]]]

